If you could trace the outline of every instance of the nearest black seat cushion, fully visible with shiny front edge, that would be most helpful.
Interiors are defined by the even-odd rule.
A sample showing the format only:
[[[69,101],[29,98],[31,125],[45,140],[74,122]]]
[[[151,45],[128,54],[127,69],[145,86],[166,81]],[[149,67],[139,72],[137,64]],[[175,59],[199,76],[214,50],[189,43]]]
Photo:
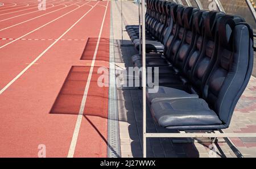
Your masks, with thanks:
[[[164,128],[170,126],[220,125],[222,121],[203,99],[162,100],[151,104],[155,121]]]

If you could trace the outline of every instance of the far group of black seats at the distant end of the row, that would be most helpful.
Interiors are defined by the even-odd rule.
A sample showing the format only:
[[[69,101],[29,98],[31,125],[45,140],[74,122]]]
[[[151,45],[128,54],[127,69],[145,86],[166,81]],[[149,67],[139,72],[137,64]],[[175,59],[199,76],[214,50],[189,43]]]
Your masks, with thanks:
[[[147,1],[146,12],[146,52],[163,52],[170,33],[170,6],[167,1]],[[167,28],[168,27],[168,28]],[[139,50],[139,26],[126,26],[126,31]]]

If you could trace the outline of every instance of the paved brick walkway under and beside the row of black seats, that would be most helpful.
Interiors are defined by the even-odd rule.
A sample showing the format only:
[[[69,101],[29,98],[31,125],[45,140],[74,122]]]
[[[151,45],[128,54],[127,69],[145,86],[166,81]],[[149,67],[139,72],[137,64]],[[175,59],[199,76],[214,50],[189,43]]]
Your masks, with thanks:
[[[123,2],[123,23],[138,24],[138,6],[133,2]],[[121,41],[121,5],[113,1],[113,24],[116,69],[127,69],[130,57],[137,54],[134,47],[119,47]],[[125,29],[125,26],[123,26]],[[123,32],[123,44],[131,44],[126,32]],[[229,129],[226,133],[256,133],[256,78],[250,83],[239,100]],[[142,157],[142,91],[118,90],[119,130],[122,157]],[[147,111],[148,132],[175,132],[155,125]],[[243,157],[256,157],[256,138],[231,138]],[[147,142],[148,157],[236,157],[238,151],[230,148],[228,143],[174,143],[171,138],[150,138]],[[184,140],[183,140],[184,141]],[[214,153],[210,149],[216,148]]]

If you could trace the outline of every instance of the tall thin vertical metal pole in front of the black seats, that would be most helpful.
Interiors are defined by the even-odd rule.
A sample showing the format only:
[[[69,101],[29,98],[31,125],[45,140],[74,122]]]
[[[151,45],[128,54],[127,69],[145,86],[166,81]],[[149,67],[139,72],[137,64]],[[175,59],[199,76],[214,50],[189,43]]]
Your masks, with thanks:
[[[142,0],[142,90],[143,90],[143,157],[147,157],[146,138],[146,28],[145,28],[145,0]]]

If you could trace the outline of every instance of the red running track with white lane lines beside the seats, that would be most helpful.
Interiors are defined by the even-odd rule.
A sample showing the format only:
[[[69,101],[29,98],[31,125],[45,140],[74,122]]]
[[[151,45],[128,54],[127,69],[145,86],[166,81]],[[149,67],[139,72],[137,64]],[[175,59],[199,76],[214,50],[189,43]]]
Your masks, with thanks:
[[[14,3],[18,6],[28,1],[0,2],[14,8]],[[0,39],[16,39],[0,40],[0,157],[38,157],[39,145],[46,146],[46,157],[67,157],[72,154],[71,143],[75,143],[71,157],[106,157],[108,87],[98,87],[97,69],[109,66],[110,2],[51,3],[56,4],[55,9],[23,16],[18,15],[24,11],[15,12],[15,22],[6,23],[5,27],[63,7],[58,4],[65,3],[67,7],[0,31]],[[89,83],[93,57],[81,57],[86,40],[97,42],[100,32],[97,52],[96,43],[90,47],[96,58]],[[72,67],[80,67],[81,83],[68,83]],[[74,139],[86,84],[89,90],[79,133]],[[73,99],[76,92],[79,97]],[[67,95],[63,98],[61,94]]]

